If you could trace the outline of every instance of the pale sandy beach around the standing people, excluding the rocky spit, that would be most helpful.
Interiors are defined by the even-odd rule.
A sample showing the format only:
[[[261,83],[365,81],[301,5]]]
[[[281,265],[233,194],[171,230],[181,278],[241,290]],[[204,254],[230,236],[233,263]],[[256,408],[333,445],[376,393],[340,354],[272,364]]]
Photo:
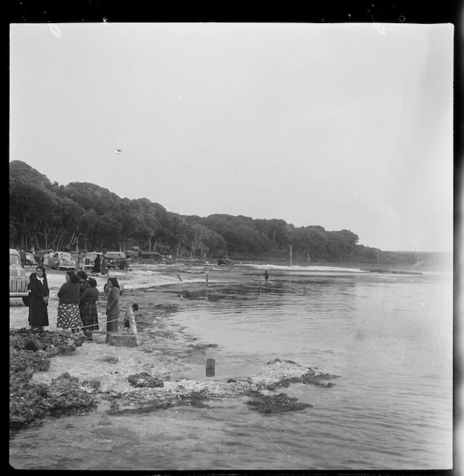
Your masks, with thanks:
[[[33,272],[34,267],[27,267],[26,271]],[[199,355],[208,348],[208,343],[198,342],[198,338],[185,334],[184,329],[176,325],[173,313],[178,308],[189,306],[189,300],[181,297],[182,292],[204,288],[207,275],[209,283],[215,283],[236,281],[242,278],[242,274],[238,268],[219,268],[199,262],[181,262],[177,265],[136,264],[129,272],[110,272],[109,276],[117,277],[124,288],[120,301],[119,332],[124,330],[122,318],[126,306],[133,302],[140,306],[137,317],[140,345],[136,348],[108,345],[103,332],[95,333],[94,340],[85,342],[73,355],[54,357],[50,369],[34,373],[34,380],[49,383],[61,373],[67,372],[79,380],[99,379],[101,392],[122,392],[131,387],[127,377],[133,373],[148,372],[159,378],[187,375],[189,362],[192,359],[198,362]],[[259,272],[256,271],[256,274]],[[57,292],[64,283],[64,275],[64,271],[48,270],[47,273],[50,288],[49,331],[57,330]],[[107,277],[94,276],[100,291],[97,309],[99,326],[103,331],[106,329],[106,297],[103,286]],[[29,327],[28,308],[20,299],[10,299],[10,329],[22,327]],[[192,352],[185,355],[185,351],[191,350],[192,346],[194,355]],[[115,359],[117,364],[114,363]]]

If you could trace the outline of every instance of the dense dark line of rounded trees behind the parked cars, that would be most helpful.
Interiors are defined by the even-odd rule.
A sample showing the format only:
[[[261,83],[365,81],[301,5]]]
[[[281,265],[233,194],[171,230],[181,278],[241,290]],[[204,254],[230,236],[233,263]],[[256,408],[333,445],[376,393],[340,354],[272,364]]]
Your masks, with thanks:
[[[261,259],[266,253],[307,260],[377,259],[350,230],[295,227],[280,219],[213,214],[182,216],[147,198],[129,200],[95,184],[51,182],[22,161],[10,163],[10,246],[68,251],[140,246],[177,256]]]

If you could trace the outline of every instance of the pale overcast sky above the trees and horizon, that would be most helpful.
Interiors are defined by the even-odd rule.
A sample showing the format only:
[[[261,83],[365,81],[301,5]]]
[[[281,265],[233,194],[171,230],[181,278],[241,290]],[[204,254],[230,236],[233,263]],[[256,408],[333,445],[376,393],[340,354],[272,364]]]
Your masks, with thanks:
[[[453,36],[451,24],[10,24],[9,160],[177,214],[451,252]]]

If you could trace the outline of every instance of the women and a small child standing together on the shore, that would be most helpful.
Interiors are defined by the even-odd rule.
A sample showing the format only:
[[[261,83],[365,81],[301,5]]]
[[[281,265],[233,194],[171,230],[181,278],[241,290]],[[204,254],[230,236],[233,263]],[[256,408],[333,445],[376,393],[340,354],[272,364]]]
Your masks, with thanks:
[[[121,292],[117,278],[108,278],[108,288],[106,331],[118,332]],[[43,265],[38,265],[36,272],[31,274],[29,291],[29,325],[33,330],[43,331],[43,327],[49,325],[48,299],[50,295]],[[96,309],[99,290],[96,288],[96,280],[87,276],[87,273],[82,270],[77,273],[68,271],[66,272],[66,282],[61,285],[58,291],[58,298],[57,327],[71,329],[73,334],[79,334],[82,331],[88,340],[92,340],[92,332],[99,330],[99,318]],[[138,311],[137,304],[128,306],[124,316],[127,325],[124,324],[124,327],[131,329],[136,336],[137,343],[140,344],[134,311]]]

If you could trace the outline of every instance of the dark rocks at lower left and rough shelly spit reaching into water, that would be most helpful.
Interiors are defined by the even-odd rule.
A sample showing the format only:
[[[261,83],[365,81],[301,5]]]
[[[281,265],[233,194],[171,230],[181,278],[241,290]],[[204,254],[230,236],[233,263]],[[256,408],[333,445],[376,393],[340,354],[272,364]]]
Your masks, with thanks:
[[[252,409],[263,413],[303,410],[310,403],[300,403],[287,394],[275,392],[293,382],[331,387],[326,382],[337,375],[317,372],[295,362],[275,359],[266,364],[262,373],[245,379],[198,382],[185,378],[171,382],[170,375],[134,373],[125,378],[129,384],[115,391],[101,385],[99,378],[80,379],[61,373],[49,383],[34,381],[34,373],[46,373],[56,356],[71,356],[85,343],[82,336],[68,332],[31,332],[10,330],[10,428],[40,424],[48,415],[75,415],[95,410],[103,400],[110,401],[110,414],[150,412],[171,406],[208,407],[208,401],[245,396]],[[119,359],[108,357],[108,364]]]

